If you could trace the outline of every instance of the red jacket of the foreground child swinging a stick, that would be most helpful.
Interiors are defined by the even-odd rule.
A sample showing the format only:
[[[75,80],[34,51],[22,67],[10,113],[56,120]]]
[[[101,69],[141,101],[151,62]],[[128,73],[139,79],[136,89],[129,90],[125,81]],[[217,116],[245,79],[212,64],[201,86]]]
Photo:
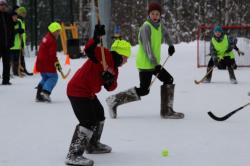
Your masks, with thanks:
[[[93,45],[93,43],[93,39],[90,39],[86,44],[85,49]],[[101,87],[104,84],[101,77],[102,72],[104,71],[101,64],[101,48],[95,47],[94,53],[99,63],[95,64],[90,59],[87,59],[83,66],[78,69],[69,81],[67,87],[68,96],[94,98],[96,93],[100,92]],[[104,53],[109,70],[113,71],[115,76],[112,85],[108,89],[108,91],[112,91],[117,87],[118,68],[114,65],[114,60],[110,51],[104,48]]]

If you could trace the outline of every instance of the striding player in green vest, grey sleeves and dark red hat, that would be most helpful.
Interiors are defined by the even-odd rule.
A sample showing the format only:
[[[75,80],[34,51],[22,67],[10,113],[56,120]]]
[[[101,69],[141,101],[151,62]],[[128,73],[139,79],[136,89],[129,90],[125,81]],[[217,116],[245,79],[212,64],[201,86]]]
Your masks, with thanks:
[[[139,31],[139,49],[136,57],[136,67],[139,70],[140,87],[133,87],[124,92],[112,95],[106,99],[111,118],[117,117],[117,106],[140,100],[141,96],[149,94],[152,76],[163,82],[161,86],[161,117],[165,119],[182,119],[183,113],[173,110],[174,79],[160,65],[161,44],[169,45],[170,56],[175,52],[172,40],[166,27],[161,23],[161,6],[152,2],[148,7],[148,17]]]

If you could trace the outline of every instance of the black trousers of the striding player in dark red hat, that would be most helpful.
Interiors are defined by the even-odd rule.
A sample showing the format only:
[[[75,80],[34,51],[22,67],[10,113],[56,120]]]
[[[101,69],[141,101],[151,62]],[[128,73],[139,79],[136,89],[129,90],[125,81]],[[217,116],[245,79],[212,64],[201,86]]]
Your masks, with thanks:
[[[149,93],[149,86],[153,75],[157,75],[158,72],[142,70],[139,72],[140,87],[136,88],[136,92],[139,96],[145,96]],[[163,82],[163,84],[173,84],[173,77],[167,72],[166,69],[162,68],[157,76],[157,78]]]

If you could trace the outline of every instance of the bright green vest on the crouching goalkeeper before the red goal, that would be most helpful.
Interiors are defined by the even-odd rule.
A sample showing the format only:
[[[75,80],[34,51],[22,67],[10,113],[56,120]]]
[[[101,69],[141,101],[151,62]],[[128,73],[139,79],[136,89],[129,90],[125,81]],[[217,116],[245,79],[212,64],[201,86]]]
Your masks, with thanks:
[[[233,51],[226,53],[229,45],[227,35],[224,35],[223,40],[221,42],[216,41],[216,39],[212,37],[212,44],[217,52],[217,57],[219,60],[224,59],[225,56],[229,56],[231,59],[234,59]]]

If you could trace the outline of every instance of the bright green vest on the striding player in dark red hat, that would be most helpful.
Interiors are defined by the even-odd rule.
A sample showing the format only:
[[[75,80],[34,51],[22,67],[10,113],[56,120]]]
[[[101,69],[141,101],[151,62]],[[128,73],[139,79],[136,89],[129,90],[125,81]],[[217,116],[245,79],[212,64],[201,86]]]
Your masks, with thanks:
[[[148,21],[145,21],[144,24],[150,26],[151,49],[156,58],[157,63],[159,64],[161,60],[162,25],[160,24],[159,28],[156,29]],[[136,67],[138,69],[153,69],[155,66],[151,64],[148,56],[146,55],[139,36],[138,36],[139,48],[136,55]]]

